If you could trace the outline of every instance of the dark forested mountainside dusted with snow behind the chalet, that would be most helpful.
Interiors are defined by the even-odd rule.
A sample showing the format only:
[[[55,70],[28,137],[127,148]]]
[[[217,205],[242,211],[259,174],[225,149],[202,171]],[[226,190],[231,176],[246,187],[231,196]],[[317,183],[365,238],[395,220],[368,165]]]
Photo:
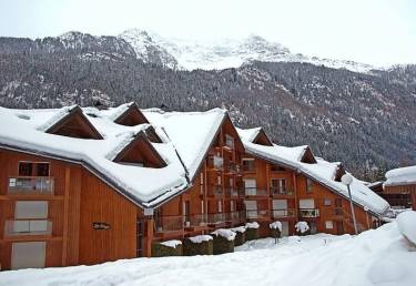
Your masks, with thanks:
[[[131,33],[123,34],[0,38],[0,105],[136,101],[142,108],[179,111],[223,106],[237,125],[262,125],[278,144],[310,144],[315,155],[345,162],[365,180],[375,180],[385,168],[416,164],[416,65],[359,73],[251,60],[239,68],[187,70],[172,55],[173,45],[154,44],[154,37],[143,32],[138,33],[142,41],[132,45]],[[262,42],[244,41],[245,50],[231,44],[224,54],[233,49],[288,53]]]

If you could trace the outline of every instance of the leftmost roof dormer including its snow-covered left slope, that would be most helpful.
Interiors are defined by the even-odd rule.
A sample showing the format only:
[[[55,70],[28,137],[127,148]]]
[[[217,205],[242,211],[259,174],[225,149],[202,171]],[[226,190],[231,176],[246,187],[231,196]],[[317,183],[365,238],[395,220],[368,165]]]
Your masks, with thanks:
[[[69,137],[103,139],[78,105],[61,109],[50,120],[44,122],[39,130]]]

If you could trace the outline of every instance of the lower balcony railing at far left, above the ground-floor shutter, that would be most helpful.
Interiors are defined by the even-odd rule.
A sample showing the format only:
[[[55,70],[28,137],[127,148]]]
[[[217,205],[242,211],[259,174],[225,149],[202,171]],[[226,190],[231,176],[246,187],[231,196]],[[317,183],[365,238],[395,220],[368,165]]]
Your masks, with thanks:
[[[50,234],[52,222],[48,219],[10,219],[4,224],[4,236]]]

